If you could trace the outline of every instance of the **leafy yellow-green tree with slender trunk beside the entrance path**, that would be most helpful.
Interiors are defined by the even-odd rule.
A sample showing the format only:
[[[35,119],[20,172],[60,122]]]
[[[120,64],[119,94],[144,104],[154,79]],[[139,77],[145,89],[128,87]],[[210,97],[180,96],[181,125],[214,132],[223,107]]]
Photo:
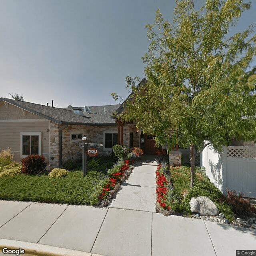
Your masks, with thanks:
[[[233,138],[256,138],[256,68],[249,66],[256,35],[249,38],[250,26],[226,38],[250,3],[206,0],[196,11],[192,0],[176,2],[172,24],[157,10],[155,23],[146,26],[147,83],[136,88],[138,78],[126,77],[133,100],[117,118],[155,134],[156,145],[189,146],[193,186],[195,157],[208,144],[221,152]]]

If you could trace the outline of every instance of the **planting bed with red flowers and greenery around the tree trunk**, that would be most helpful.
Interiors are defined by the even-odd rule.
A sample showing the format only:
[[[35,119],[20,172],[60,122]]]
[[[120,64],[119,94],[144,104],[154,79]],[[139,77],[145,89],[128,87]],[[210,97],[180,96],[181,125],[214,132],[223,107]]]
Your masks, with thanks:
[[[167,164],[158,164],[156,170],[156,212],[164,215],[178,214],[191,216],[190,200],[192,197],[207,196],[217,206],[218,210],[232,221],[232,210],[226,203],[218,202],[222,193],[204,174],[200,167],[196,167],[194,186],[190,188],[190,168],[169,167]]]

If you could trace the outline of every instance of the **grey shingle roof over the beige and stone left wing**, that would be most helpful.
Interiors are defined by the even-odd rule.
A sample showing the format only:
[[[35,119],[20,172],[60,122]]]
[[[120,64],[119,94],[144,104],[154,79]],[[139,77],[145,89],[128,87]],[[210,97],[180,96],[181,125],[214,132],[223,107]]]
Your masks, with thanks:
[[[84,116],[79,116],[75,114],[73,110],[65,108],[53,108],[50,106],[44,106],[40,104],[35,104],[31,102],[25,102],[20,100],[11,100],[8,98],[0,98],[0,102],[5,101],[14,106],[27,110],[33,114],[56,122],[58,124],[87,124],[87,125],[106,125],[106,124],[116,124],[115,120],[111,119],[112,113],[120,105],[110,105],[110,106],[96,106],[91,107],[91,113],[83,113]],[[105,108],[105,112],[104,112]]]

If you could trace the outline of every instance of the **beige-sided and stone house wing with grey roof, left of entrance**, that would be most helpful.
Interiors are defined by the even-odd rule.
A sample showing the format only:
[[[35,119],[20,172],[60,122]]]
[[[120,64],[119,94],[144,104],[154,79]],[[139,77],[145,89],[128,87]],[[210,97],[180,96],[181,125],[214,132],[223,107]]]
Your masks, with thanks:
[[[47,104],[48,105],[48,104]],[[31,102],[0,98],[0,150],[11,148],[20,162],[30,154],[42,154],[49,168],[81,156],[77,142],[103,144],[109,154],[118,142],[118,124],[111,118],[120,105],[54,108]]]

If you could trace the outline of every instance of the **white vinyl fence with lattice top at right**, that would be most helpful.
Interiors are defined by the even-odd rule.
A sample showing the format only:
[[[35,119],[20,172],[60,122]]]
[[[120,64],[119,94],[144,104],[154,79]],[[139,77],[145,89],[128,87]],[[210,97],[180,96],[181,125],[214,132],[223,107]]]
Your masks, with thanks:
[[[202,152],[206,175],[226,195],[226,188],[256,198],[256,146],[223,146],[218,154],[212,145]]]

